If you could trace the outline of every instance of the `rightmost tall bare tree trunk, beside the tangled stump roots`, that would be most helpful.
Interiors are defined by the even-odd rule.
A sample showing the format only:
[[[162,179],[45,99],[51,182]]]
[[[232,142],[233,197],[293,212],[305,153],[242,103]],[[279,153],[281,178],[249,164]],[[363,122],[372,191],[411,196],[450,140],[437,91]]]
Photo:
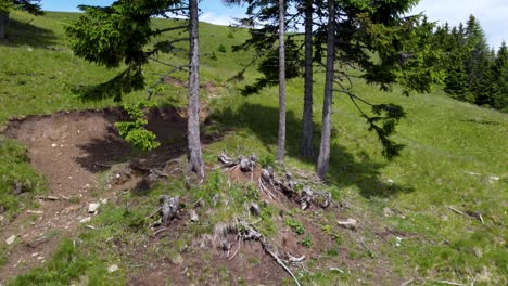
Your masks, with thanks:
[[[321,145],[317,162],[317,174],[323,180],[330,160],[331,105],[333,96],[333,70],[335,62],[335,8],[333,0],[328,0],[327,67],[325,78],[325,99],[322,103]]]

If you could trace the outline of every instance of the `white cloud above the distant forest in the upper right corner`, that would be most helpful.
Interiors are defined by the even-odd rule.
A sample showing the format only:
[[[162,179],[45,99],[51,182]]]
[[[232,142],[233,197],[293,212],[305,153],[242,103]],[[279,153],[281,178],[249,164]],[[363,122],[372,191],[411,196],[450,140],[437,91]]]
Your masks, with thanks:
[[[498,48],[508,40],[507,0],[421,0],[414,13],[423,12],[430,21],[456,26],[473,14],[483,27],[490,46]]]

